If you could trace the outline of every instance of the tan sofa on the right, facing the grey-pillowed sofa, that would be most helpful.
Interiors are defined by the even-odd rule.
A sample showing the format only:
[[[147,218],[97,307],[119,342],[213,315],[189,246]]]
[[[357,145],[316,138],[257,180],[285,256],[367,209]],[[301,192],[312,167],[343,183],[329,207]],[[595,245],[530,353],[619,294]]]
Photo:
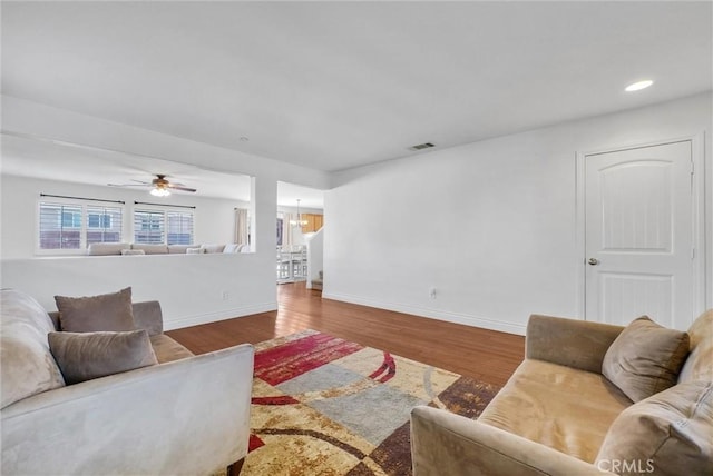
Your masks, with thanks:
[[[691,353],[676,385],[637,404],[602,375],[605,355],[623,330],[531,316],[526,359],[478,420],[413,409],[413,474],[713,474],[713,310],[688,330]],[[696,397],[685,399],[692,387]],[[684,416],[658,428],[661,415],[673,410]],[[646,445],[635,446],[649,430],[664,434],[653,456]],[[636,456],[606,457],[605,444],[604,453]]]

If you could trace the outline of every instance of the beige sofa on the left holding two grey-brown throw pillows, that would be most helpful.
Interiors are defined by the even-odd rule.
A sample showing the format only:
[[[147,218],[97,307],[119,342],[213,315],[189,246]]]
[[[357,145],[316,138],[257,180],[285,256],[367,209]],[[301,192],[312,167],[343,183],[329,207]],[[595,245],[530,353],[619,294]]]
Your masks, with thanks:
[[[0,294],[2,475],[240,470],[252,346],[194,356],[163,334],[158,303],[137,303],[135,326],[147,330],[159,364],[65,385],[48,346],[57,315],[20,291]]]

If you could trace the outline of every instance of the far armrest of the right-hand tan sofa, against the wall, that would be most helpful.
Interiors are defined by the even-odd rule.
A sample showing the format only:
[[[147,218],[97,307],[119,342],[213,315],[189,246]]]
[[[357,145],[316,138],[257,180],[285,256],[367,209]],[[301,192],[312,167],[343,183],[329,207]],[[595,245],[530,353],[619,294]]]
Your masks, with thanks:
[[[604,355],[622,330],[622,326],[534,314],[527,323],[525,356],[600,374]]]

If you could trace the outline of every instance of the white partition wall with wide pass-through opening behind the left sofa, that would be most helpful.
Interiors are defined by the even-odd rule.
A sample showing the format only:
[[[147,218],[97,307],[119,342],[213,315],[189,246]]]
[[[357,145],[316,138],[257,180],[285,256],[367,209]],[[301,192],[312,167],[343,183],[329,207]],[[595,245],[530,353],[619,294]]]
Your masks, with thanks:
[[[28,245],[19,244],[20,238],[16,235],[9,235],[10,248],[4,246],[4,222],[8,221],[4,215],[17,219],[21,208],[16,207],[33,207],[36,198],[32,197],[32,205],[28,205],[25,200],[20,202],[14,197],[6,197],[3,192],[0,286],[22,289],[47,309],[55,308],[55,295],[88,296],[125,286],[134,288],[135,300],[157,299],[162,303],[166,328],[276,309],[277,181],[312,188],[324,188],[329,182],[324,172],[7,96],[2,96],[2,129],[16,135],[254,177],[251,204],[255,207],[253,249],[256,252],[231,257],[144,256],[135,257],[135,260],[123,260],[127,257],[22,257],[27,256]],[[14,246],[22,251],[14,255]],[[6,251],[16,258],[6,258]]]

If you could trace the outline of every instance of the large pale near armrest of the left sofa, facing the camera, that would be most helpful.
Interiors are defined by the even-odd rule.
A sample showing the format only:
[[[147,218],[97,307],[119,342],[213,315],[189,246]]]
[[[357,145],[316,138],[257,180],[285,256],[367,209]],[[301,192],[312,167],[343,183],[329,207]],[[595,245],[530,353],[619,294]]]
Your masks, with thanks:
[[[46,391],[0,411],[2,474],[198,475],[245,457],[244,344]]]

